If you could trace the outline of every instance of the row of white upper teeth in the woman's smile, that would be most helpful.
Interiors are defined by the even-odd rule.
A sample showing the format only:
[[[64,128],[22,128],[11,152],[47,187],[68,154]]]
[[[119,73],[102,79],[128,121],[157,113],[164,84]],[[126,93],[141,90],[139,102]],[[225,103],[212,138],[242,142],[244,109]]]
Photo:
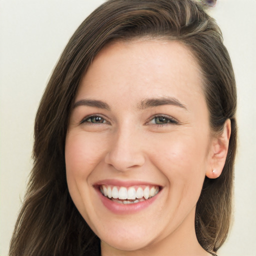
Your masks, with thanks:
[[[118,198],[118,199],[136,199],[142,198],[148,199],[156,195],[159,192],[158,186],[110,186],[110,185],[101,185],[100,191],[103,195],[107,196],[108,198]]]

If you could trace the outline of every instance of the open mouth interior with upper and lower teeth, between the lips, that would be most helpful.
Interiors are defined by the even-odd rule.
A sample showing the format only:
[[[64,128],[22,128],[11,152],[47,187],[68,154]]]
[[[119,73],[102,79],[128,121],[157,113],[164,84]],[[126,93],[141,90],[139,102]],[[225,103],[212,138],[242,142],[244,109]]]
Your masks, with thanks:
[[[141,185],[141,186],[111,186],[111,185],[99,185],[99,190],[108,199],[117,203],[138,203],[145,201],[155,196],[160,187],[156,185]]]

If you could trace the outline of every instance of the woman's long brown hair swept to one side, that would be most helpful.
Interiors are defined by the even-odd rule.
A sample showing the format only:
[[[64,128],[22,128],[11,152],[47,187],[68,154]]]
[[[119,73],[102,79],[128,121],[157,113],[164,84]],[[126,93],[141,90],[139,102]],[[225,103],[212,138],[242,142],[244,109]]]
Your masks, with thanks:
[[[205,177],[196,206],[201,246],[216,251],[230,224],[236,151],[236,89],[232,65],[215,20],[193,0],[108,0],[77,28],[42,96],[34,126],[34,165],[10,242],[9,255],[97,255],[99,238],[74,206],[65,177],[64,145],[79,81],[95,55],[113,40],[165,38],[189,47],[204,77],[214,132],[231,120],[222,174]]]

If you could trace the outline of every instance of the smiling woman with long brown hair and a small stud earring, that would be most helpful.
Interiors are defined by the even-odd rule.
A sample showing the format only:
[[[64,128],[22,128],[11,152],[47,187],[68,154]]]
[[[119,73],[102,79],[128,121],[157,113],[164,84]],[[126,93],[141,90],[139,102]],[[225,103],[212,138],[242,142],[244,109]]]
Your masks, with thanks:
[[[235,108],[221,32],[198,3],[102,4],[41,99],[9,254],[214,255],[229,228]]]

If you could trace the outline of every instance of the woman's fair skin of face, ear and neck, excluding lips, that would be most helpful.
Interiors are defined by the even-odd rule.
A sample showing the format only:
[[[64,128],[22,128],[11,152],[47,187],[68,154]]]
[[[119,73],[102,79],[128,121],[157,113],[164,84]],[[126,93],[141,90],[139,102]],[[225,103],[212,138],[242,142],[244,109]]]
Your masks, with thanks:
[[[141,101],[161,97],[182,106],[141,107]],[[84,99],[109,109],[76,104],[72,110],[66,176],[72,200],[101,240],[102,255],[210,255],[195,236],[195,206],[205,175],[221,173],[230,122],[212,135],[202,77],[189,50],[176,41],[114,42],[80,81],[75,102]],[[90,115],[100,121],[93,123]],[[159,115],[166,123],[159,124]],[[145,209],[115,214],[93,186],[103,179],[162,189]]]

